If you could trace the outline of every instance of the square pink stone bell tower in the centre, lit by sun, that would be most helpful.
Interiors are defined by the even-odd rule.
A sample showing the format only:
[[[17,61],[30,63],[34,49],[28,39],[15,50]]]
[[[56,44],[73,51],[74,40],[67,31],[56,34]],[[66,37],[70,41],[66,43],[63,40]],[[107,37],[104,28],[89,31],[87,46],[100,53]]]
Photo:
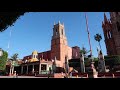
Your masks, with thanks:
[[[54,24],[53,36],[51,40],[51,59],[56,57],[56,66],[63,67],[65,56],[68,54],[67,38],[65,36],[64,24],[60,21]]]

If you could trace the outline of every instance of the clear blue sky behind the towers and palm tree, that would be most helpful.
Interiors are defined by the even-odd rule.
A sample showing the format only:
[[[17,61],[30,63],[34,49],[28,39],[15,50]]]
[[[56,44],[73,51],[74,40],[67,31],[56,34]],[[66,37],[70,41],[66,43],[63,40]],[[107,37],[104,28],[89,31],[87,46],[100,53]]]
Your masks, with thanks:
[[[109,19],[109,12],[106,12]],[[93,55],[97,57],[96,47],[99,45],[94,40],[94,35],[102,35],[101,47],[106,55],[106,46],[102,30],[104,12],[87,12],[90,39]],[[53,24],[64,23],[68,45],[86,47],[89,50],[88,34],[84,12],[30,12],[21,16],[14,26],[0,33],[0,47],[8,50],[10,41],[9,57],[18,53],[19,58],[30,55],[32,51],[43,52],[51,49],[51,37]],[[10,37],[11,30],[11,37]]]

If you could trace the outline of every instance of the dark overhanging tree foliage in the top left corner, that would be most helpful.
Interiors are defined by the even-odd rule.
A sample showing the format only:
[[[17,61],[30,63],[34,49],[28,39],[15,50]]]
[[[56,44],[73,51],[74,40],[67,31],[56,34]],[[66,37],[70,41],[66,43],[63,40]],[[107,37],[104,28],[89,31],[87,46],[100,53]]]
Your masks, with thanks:
[[[0,32],[12,26],[25,12],[0,12]]]

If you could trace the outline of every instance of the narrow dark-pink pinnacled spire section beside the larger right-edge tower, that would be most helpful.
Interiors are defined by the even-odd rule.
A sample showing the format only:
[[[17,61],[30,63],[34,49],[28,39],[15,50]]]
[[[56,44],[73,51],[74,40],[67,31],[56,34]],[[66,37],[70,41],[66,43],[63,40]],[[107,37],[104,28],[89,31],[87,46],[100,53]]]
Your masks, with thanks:
[[[112,23],[107,19],[104,13],[104,22],[102,22],[102,28],[104,32],[105,44],[108,55],[116,55],[115,41],[113,37]]]

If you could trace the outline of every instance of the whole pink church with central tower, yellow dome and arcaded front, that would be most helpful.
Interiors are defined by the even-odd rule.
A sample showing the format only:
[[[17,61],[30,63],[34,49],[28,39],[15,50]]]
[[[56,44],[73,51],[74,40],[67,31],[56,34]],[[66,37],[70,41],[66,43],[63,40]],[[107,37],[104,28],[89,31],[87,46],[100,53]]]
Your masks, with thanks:
[[[80,58],[80,48],[78,46],[68,46],[64,24],[58,22],[53,26],[51,50],[45,52],[34,51],[31,55],[25,56],[21,64],[21,74],[34,71],[41,74],[42,71],[53,69],[53,64],[61,71],[61,69],[65,69],[66,59],[70,60],[72,58]]]

